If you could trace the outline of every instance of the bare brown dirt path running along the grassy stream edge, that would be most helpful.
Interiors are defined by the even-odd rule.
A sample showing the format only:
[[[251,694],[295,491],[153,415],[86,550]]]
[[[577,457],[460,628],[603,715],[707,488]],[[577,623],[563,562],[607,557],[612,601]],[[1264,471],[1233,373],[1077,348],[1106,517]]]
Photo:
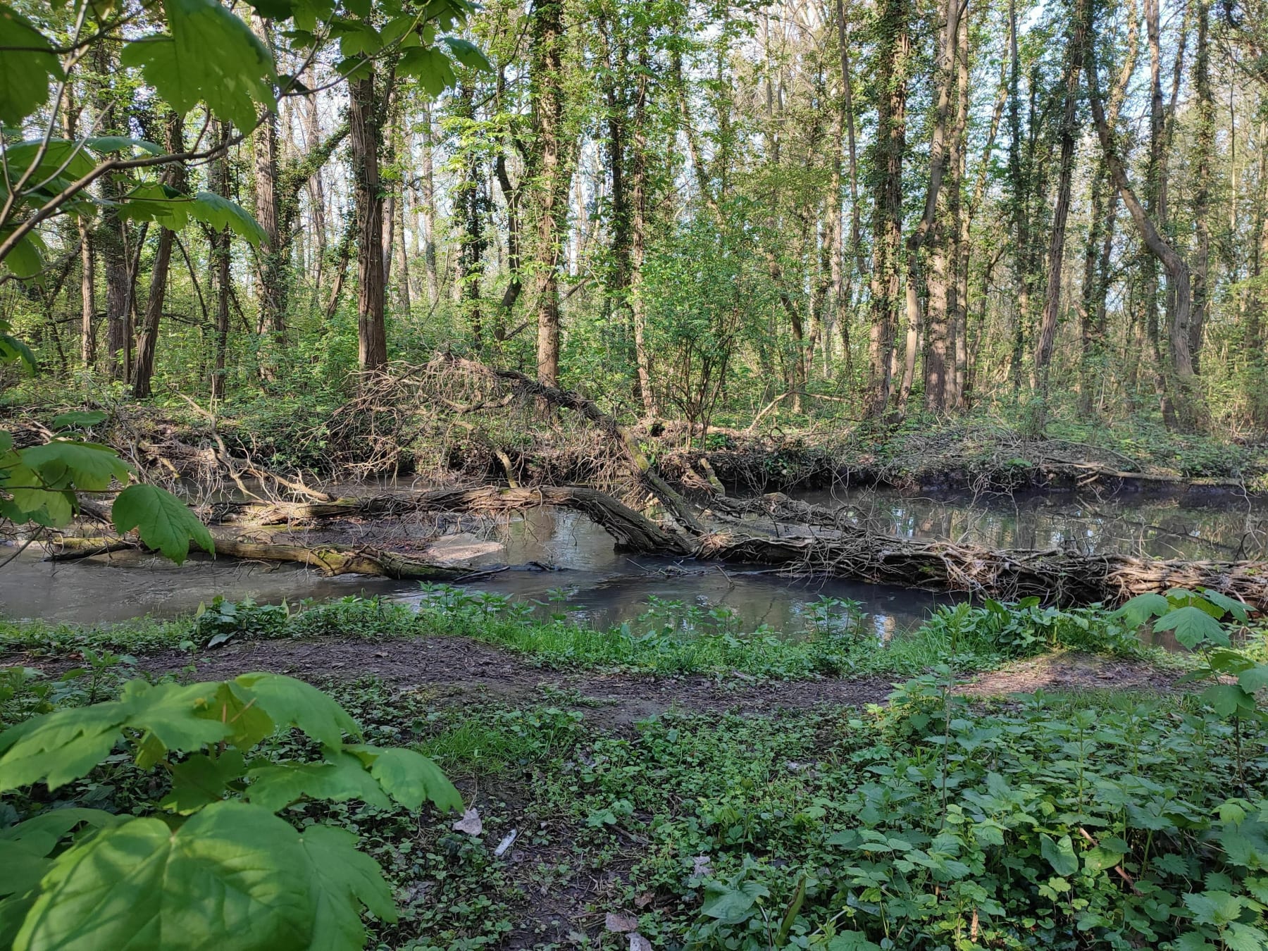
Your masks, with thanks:
[[[75,663],[71,657],[9,656],[18,663],[56,675]],[[700,676],[664,677],[630,673],[569,673],[534,666],[533,658],[465,638],[417,640],[261,640],[230,644],[189,654],[166,650],[141,657],[138,671],[181,673],[194,668],[198,680],[226,680],[269,671],[314,685],[330,680],[378,677],[407,690],[435,691],[446,704],[489,700],[524,705],[549,701],[585,710],[598,725],[629,725],[671,710],[766,715],[779,709],[862,706],[884,702],[893,690],[885,677],[754,681],[734,675],[723,680]],[[1035,690],[1165,691],[1173,672],[1142,661],[1060,653],[1008,664],[970,678],[961,692],[995,697]]]

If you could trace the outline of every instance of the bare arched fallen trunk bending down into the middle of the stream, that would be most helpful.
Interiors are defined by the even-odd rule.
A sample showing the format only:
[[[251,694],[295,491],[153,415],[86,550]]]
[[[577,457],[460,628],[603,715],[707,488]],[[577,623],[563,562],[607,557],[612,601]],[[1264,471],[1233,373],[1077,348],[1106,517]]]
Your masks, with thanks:
[[[224,520],[251,525],[346,519],[351,516],[407,515],[411,512],[465,512],[502,515],[553,506],[583,514],[607,531],[628,552],[682,555],[691,545],[611,496],[579,486],[540,488],[443,488],[410,495],[355,496],[330,502],[228,502],[219,503]]]

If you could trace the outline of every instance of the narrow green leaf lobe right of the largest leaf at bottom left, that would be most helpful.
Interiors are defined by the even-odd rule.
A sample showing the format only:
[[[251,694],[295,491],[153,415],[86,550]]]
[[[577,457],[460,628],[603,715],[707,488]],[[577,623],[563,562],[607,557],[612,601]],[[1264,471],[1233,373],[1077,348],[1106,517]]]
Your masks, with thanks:
[[[299,844],[308,856],[313,902],[313,941],[307,951],[364,947],[363,904],[380,921],[397,919],[392,889],[378,862],[356,851],[356,836],[328,825],[309,825]]]

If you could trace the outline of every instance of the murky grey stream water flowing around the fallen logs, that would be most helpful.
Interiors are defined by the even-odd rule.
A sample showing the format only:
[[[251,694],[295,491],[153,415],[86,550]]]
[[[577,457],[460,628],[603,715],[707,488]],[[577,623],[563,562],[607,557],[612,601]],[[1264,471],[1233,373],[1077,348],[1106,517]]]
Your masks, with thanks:
[[[382,487],[375,487],[382,488]],[[1069,547],[1088,553],[1120,552],[1159,558],[1255,559],[1268,552],[1268,503],[1235,496],[1080,497],[1047,493],[1011,496],[907,496],[894,491],[837,491],[796,497],[846,510],[875,531],[913,539],[943,539],[992,548]],[[399,526],[398,526],[399,529]],[[346,543],[373,543],[375,527]],[[434,525],[420,519],[420,540]],[[960,600],[839,578],[786,578],[770,571],[614,552],[611,538],[585,516],[533,510],[501,530],[446,535],[431,557],[473,568],[539,563],[554,571],[515,568],[467,582],[465,587],[541,605],[544,614],[567,612],[598,628],[637,621],[654,598],[685,606],[723,607],[744,630],[767,625],[795,633],[808,605],[822,597],[858,601],[883,638],[919,624],[940,604]],[[262,564],[191,557],[183,567],[143,553],[115,553],[49,563],[30,549],[0,571],[0,611],[14,618],[109,623],[151,615],[170,618],[222,595],[230,600],[295,602],[378,595],[421,602],[415,582],[365,576],[322,577],[290,564]]]

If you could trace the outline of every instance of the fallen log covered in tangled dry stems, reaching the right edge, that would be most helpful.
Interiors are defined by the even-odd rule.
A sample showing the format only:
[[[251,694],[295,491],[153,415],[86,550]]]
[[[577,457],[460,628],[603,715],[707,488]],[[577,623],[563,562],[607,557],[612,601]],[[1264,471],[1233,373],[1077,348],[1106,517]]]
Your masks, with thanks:
[[[1213,588],[1268,611],[1268,562],[1179,562],[1083,555],[1059,549],[990,550],[915,541],[855,529],[828,536],[715,533],[697,558],[767,564],[880,585],[962,591],[995,600],[1036,596],[1046,604],[1120,604],[1169,588]]]

